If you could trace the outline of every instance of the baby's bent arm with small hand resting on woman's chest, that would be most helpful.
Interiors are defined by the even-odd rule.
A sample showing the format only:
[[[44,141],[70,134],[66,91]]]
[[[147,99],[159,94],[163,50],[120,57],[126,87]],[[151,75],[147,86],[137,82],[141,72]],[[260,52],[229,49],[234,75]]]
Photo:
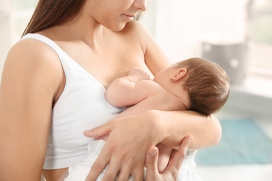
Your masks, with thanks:
[[[147,96],[145,86],[139,81],[149,80],[149,77],[142,68],[133,68],[128,76],[112,81],[105,93],[107,102],[116,107],[127,107],[144,100]]]

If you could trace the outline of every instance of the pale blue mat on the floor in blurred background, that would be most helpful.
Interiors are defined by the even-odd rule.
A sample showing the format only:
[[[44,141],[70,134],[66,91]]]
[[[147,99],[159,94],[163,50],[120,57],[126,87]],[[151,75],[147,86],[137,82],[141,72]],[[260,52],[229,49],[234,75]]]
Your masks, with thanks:
[[[244,118],[221,120],[220,123],[220,143],[199,150],[195,157],[196,164],[272,163],[272,141],[255,121]]]

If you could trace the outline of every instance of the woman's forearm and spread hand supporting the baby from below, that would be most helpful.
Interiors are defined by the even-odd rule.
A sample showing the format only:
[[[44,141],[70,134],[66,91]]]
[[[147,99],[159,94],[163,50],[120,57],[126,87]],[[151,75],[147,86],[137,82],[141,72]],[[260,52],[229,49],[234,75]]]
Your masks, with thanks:
[[[191,111],[152,110],[138,116],[118,118],[85,132],[86,136],[94,138],[109,134],[88,179],[96,179],[110,163],[105,180],[112,180],[120,170],[120,178],[127,179],[133,174],[136,180],[140,180],[146,150],[150,146],[163,143],[169,148],[178,148],[188,133],[194,137],[189,149],[195,150],[217,144],[221,127],[213,116],[207,119]]]

